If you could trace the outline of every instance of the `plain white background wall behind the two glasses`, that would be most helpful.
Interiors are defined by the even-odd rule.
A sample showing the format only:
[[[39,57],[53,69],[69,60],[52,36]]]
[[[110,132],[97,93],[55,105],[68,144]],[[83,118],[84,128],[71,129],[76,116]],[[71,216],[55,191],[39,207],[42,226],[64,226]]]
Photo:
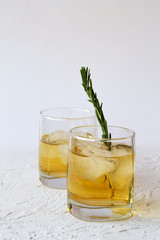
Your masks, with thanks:
[[[43,108],[92,108],[81,66],[108,123],[159,144],[159,0],[0,0],[0,148],[36,149]]]

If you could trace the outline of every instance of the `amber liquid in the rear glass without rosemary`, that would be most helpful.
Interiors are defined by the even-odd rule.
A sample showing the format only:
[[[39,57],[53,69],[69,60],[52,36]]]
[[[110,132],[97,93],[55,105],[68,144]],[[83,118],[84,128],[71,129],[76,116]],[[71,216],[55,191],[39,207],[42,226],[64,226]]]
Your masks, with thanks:
[[[68,143],[52,144],[39,142],[40,172],[51,177],[67,176]]]

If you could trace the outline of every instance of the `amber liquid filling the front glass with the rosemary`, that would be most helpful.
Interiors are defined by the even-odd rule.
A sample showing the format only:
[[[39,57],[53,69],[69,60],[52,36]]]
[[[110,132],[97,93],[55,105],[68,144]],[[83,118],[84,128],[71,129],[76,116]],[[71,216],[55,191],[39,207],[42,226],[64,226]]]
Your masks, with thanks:
[[[114,156],[114,149],[119,155]],[[113,157],[82,156],[69,152],[68,198],[89,206],[125,206],[132,203],[134,153],[127,146],[113,146]],[[97,162],[95,162],[95,159]],[[93,161],[92,161],[93,160]],[[105,164],[114,167],[107,170]],[[104,164],[104,168],[103,168]],[[92,169],[91,169],[92,168]],[[105,172],[106,169],[106,172]]]

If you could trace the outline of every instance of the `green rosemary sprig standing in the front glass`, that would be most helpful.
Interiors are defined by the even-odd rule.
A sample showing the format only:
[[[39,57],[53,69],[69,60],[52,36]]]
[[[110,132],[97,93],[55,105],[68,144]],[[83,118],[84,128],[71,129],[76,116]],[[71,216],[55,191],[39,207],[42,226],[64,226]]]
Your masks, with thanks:
[[[97,94],[94,92],[92,87],[90,70],[88,67],[82,67],[80,72],[82,76],[82,86],[89,97],[88,101],[91,102],[95,108],[96,117],[102,128],[102,138],[111,138],[111,133],[108,133],[107,121],[102,110],[103,103],[99,103]],[[109,142],[107,145],[109,147],[109,150],[111,150],[111,142]]]

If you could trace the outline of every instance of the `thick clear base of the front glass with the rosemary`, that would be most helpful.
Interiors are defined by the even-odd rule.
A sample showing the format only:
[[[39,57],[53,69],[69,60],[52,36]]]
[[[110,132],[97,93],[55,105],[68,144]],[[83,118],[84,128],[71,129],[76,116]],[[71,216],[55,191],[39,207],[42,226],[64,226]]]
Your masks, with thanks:
[[[106,222],[113,220],[126,219],[132,216],[132,206],[87,206],[68,200],[68,211],[84,221]]]

